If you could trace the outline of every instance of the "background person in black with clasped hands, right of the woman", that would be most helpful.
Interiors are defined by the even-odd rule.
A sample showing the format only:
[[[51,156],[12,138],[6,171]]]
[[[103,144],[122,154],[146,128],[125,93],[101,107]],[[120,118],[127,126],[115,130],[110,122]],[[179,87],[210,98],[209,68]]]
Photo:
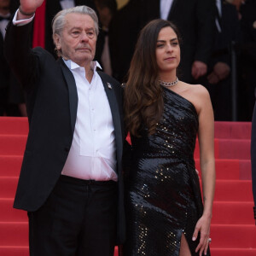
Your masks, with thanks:
[[[216,1],[213,48],[206,81],[201,81],[210,93],[214,119],[232,120],[231,47],[241,38],[236,7],[226,1]],[[233,71],[236,73],[236,70]]]

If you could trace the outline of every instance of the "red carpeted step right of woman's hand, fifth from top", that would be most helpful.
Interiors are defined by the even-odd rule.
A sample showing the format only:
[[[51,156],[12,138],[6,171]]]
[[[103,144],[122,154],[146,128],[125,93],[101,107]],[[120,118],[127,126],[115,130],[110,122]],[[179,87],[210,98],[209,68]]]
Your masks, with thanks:
[[[212,224],[254,224],[253,201],[214,201]]]

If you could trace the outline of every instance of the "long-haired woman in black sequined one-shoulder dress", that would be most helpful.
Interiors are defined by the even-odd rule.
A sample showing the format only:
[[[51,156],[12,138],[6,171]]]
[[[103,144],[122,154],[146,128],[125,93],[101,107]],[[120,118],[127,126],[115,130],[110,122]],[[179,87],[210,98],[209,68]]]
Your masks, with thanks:
[[[177,79],[179,42],[171,22],[153,20],[143,28],[131,61],[125,86],[132,144],[125,256],[210,255],[212,104],[203,86]],[[194,161],[197,134],[204,206]]]

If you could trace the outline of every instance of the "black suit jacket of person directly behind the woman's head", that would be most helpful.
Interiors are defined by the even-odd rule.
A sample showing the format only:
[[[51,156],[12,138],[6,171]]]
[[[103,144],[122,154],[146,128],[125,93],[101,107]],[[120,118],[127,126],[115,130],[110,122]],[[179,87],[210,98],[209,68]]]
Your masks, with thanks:
[[[212,50],[214,11],[214,0],[173,0],[168,20],[177,25],[183,38],[180,63],[180,78],[183,81],[192,81],[193,61],[205,63],[209,61]],[[138,32],[148,21],[159,18],[160,0],[131,0],[113,18],[109,44],[113,60],[113,75],[117,79],[121,79],[128,70]],[[125,26],[124,23],[127,25]]]

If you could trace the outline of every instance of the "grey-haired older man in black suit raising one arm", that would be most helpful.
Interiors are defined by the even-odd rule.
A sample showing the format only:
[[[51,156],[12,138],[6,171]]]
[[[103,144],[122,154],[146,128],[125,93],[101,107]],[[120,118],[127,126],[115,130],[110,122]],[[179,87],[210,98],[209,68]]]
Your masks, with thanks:
[[[28,39],[44,0],[20,0],[5,55],[26,90],[29,135],[15,208],[29,216],[31,255],[113,255],[124,241],[122,90],[93,61],[98,25],[86,6],[53,22],[55,61]]]

